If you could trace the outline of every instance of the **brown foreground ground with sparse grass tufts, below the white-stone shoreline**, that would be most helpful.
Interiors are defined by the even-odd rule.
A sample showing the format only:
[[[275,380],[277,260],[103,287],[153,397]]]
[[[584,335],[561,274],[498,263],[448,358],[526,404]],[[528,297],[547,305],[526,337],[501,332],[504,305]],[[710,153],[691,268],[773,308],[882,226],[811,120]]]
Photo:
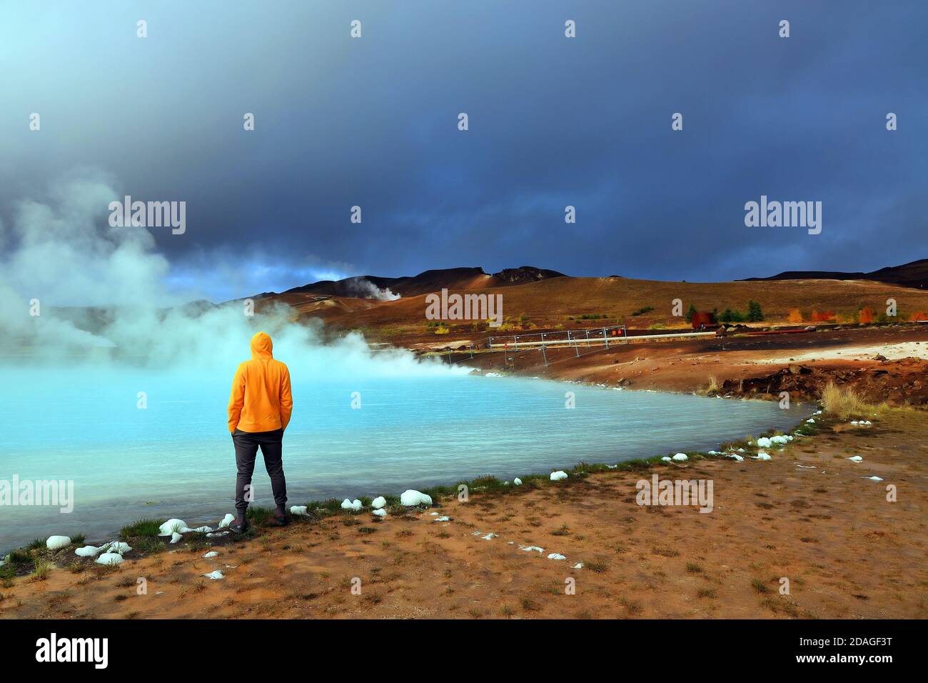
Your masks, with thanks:
[[[0,617],[928,617],[928,413],[819,427],[768,462],[691,460],[473,491],[467,503],[441,501],[448,522],[419,509],[383,521],[342,513],[262,530],[219,546],[218,558],[182,544],[115,568],[56,569],[5,587]],[[636,505],[636,482],[651,473],[712,479],[714,510]],[[202,577],[215,569],[226,578]]]

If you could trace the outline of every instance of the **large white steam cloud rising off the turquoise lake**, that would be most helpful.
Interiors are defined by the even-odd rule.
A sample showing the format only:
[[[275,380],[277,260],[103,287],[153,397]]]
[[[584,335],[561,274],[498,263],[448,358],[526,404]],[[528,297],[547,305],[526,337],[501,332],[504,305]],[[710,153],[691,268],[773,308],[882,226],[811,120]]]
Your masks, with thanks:
[[[277,358],[327,378],[458,372],[402,349],[371,351],[358,334],[324,343],[318,324],[296,322],[285,306],[253,317],[237,303],[178,306],[197,292],[164,285],[170,267],[151,233],[110,227],[108,204],[121,196],[110,178],[84,172],[43,201],[20,201],[11,225],[0,225],[0,361],[126,361],[231,373],[249,357],[251,335],[264,330]],[[88,304],[101,308],[58,308]]]

